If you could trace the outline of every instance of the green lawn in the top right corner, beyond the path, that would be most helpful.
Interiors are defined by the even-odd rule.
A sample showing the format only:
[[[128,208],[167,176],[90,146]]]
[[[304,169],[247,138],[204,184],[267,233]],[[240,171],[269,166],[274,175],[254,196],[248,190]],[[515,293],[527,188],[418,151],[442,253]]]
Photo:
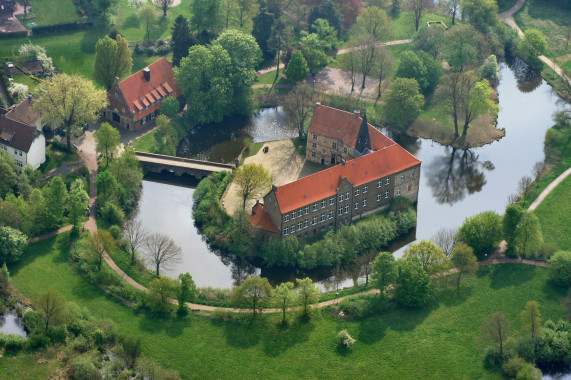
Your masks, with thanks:
[[[566,49],[565,35],[571,25],[571,7],[560,5],[556,0],[527,1],[514,15],[519,27],[525,31],[536,28],[547,40],[548,57],[560,57],[571,53]],[[569,58],[567,58],[569,59]]]

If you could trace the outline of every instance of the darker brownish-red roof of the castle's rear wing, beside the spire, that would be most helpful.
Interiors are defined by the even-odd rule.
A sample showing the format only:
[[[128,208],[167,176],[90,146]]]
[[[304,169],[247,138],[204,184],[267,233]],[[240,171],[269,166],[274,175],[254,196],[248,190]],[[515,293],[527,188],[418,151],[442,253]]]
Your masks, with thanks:
[[[354,148],[362,121],[363,119],[355,117],[354,113],[320,105],[313,110],[308,133],[338,139]],[[395,143],[371,124],[368,126],[372,150],[382,149]]]

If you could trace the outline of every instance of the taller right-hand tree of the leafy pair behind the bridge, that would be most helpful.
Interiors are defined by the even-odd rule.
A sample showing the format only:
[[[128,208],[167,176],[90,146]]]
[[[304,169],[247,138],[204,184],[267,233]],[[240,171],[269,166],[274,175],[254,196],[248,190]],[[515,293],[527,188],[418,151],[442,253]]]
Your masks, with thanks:
[[[262,52],[252,35],[239,30],[226,30],[214,41],[230,57],[230,83],[232,101],[229,112],[249,115],[252,111],[252,85],[256,81],[256,67],[262,59]]]

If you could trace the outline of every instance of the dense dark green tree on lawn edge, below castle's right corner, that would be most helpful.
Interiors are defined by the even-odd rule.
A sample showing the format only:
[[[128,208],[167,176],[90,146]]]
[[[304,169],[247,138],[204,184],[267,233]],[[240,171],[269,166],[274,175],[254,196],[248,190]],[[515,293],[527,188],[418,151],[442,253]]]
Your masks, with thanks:
[[[423,305],[430,292],[430,278],[416,258],[397,261],[398,276],[395,283],[395,299],[408,307]]]

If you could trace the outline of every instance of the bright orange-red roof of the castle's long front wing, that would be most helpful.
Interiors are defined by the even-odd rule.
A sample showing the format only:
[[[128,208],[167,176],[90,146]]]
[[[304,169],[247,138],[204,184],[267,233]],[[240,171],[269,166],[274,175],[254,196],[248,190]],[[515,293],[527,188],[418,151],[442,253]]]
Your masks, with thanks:
[[[392,144],[347,161],[345,165],[336,165],[278,187],[275,194],[282,214],[336,195],[337,187],[345,177],[353,186],[359,186],[420,164],[420,160],[403,147],[385,138]]]

